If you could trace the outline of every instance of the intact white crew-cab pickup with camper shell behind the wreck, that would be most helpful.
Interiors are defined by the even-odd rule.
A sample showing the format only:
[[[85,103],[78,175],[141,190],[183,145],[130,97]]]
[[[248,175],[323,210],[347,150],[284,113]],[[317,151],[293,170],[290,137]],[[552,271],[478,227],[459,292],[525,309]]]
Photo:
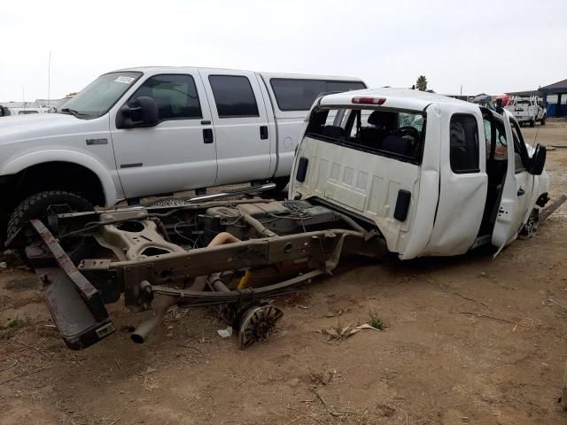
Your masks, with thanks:
[[[193,67],[105,73],[58,113],[0,120],[0,241],[59,211],[221,184],[288,182],[322,92],[357,78]],[[1,243],[1,242],[0,242]]]

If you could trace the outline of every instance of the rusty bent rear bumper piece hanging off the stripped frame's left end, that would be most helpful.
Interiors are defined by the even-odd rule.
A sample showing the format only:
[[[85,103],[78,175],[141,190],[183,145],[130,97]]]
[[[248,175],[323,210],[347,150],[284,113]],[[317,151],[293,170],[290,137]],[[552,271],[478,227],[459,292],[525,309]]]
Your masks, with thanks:
[[[44,245],[28,246],[26,255],[45,287],[45,301],[63,341],[72,350],[82,350],[113,334],[100,292],[74,267],[41,221],[30,223]]]

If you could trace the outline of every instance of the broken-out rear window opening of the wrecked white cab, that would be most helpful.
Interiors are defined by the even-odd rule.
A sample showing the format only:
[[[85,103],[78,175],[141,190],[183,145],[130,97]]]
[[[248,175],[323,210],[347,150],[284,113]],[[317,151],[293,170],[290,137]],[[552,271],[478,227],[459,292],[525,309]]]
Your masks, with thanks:
[[[422,158],[425,117],[423,112],[319,109],[309,119],[307,135],[417,164]]]

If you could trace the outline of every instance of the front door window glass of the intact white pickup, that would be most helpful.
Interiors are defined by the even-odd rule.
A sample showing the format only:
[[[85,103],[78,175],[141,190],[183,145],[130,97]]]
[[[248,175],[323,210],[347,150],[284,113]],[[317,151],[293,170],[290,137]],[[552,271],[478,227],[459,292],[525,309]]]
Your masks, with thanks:
[[[190,75],[155,75],[130,97],[151,97],[158,107],[159,120],[190,120],[202,117],[197,87]]]

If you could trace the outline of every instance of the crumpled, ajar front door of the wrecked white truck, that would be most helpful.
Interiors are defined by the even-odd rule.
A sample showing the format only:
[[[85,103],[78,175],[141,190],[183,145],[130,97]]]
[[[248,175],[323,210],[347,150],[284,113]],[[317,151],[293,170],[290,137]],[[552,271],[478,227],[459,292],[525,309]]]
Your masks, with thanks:
[[[516,239],[531,213],[529,208],[533,190],[533,175],[527,172],[527,150],[522,133],[516,121],[510,122],[509,112],[504,112],[503,120],[506,140],[509,141],[508,170],[492,236],[492,243],[498,247],[498,252]]]

